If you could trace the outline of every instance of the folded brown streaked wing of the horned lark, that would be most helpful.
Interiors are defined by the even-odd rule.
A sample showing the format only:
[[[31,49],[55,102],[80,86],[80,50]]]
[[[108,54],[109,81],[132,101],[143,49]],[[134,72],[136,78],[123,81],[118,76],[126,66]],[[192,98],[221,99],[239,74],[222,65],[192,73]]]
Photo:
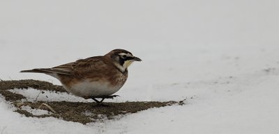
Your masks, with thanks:
[[[107,64],[105,63],[105,60],[103,60],[103,56],[95,56],[52,67],[52,69],[56,70],[58,74],[60,74],[59,72],[63,72],[63,74],[84,74],[88,72],[98,72],[100,69],[106,67]]]

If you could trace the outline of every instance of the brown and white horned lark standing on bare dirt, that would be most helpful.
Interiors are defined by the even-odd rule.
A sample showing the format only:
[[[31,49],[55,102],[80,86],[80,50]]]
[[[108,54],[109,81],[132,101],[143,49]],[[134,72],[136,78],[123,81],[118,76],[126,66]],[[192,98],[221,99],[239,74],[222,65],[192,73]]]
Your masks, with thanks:
[[[57,78],[70,93],[93,99],[97,103],[113,99],[128,78],[128,67],[142,61],[123,49],[114,49],[105,56],[94,56],[52,68],[22,70],[43,73]],[[97,99],[101,99],[100,101]]]

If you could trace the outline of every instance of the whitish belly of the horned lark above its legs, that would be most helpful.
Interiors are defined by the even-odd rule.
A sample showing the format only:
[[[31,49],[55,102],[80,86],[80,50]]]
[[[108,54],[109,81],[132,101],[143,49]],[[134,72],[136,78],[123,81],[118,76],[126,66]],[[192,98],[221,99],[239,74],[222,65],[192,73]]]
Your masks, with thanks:
[[[71,87],[66,87],[68,92],[75,94],[78,97],[89,97],[89,96],[108,96],[117,92],[121,86],[112,86],[110,83],[100,83],[98,81],[84,81],[77,83]]]

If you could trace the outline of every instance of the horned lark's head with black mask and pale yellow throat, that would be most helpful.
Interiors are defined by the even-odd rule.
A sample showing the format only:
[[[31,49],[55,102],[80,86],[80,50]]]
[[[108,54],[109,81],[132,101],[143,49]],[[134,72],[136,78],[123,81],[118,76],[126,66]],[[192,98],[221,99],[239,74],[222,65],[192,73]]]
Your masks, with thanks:
[[[114,49],[110,51],[110,53],[107,53],[106,56],[110,56],[110,58],[112,58],[112,62],[114,62],[114,65],[121,72],[126,72],[127,68],[134,61],[142,61],[140,58],[133,56],[132,53],[124,49]]]

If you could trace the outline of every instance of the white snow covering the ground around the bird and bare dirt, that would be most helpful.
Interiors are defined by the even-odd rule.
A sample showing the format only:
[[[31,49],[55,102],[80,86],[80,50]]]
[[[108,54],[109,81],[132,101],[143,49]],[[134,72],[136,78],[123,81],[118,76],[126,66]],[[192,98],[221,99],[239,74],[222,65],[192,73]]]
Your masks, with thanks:
[[[187,102],[83,125],[24,117],[0,97],[0,133],[279,133],[278,6],[275,0],[0,1],[2,80],[60,85],[19,72],[122,48],[143,62],[129,67],[116,92],[121,97],[110,101]],[[40,92],[11,91],[30,100]],[[38,99],[87,101],[54,92]]]

